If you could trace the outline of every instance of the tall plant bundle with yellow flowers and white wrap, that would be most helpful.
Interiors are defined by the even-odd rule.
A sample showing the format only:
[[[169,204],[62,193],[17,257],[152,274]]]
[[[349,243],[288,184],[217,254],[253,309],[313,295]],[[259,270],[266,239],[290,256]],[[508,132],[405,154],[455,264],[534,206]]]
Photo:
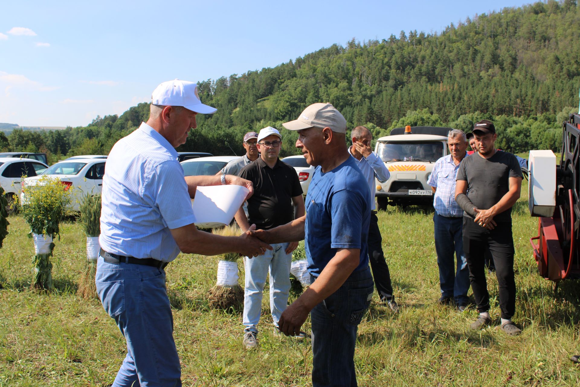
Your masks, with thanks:
[[[70,206],[70,190],[59,179],[49,176],[41,176],[34,185],[24,185],[22,190],[25,199],[21,215],[34,238],[32,288],[51,290],[53,238],[60,237],[59,223]]]

